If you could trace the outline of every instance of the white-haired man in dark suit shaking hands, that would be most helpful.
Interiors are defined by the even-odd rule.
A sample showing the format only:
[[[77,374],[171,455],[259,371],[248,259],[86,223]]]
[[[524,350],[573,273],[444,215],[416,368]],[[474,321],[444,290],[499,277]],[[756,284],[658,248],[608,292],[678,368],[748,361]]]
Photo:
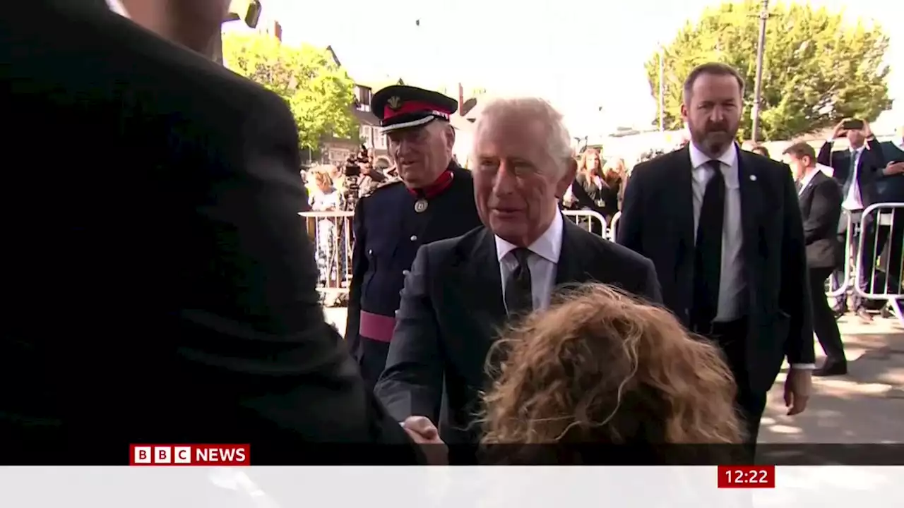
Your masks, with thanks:
[[[569,139],[560,114],[542,99],[485,108],[473,159],[484,227],[419,249],[376,388],[396,419],[436,423],[445,399],[443,440],[476,443],[478,394],[498,330],[513,316],[549,306],[561,284],[600,281],[660,300],[649,259],[559,212],[557,199],[574,180]]]

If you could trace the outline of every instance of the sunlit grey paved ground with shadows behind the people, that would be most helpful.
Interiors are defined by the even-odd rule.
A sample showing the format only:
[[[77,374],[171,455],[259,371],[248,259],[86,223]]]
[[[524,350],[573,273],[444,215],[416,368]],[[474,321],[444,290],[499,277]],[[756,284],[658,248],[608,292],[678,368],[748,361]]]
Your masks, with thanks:
[[[345,309],[327,308],[340,330]],[[839,322],[848,356],[847,376],[815,378],[809,408],[786,416],[784,372],[769,394],[761,443],[904,443],[904,328],[896,319]],[[816,347],[822,362],[822,350]]]

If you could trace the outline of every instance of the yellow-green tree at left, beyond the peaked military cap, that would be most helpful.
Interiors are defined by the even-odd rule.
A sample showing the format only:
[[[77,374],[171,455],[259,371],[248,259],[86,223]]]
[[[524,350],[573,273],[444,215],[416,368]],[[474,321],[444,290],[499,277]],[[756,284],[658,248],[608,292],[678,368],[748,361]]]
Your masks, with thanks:
[[[325,49],[244,33],[223,35],[222,47],[227,67],[286,99],[298,125],[298,146],[316,149],[323,136],[357,135],[353,82]]]

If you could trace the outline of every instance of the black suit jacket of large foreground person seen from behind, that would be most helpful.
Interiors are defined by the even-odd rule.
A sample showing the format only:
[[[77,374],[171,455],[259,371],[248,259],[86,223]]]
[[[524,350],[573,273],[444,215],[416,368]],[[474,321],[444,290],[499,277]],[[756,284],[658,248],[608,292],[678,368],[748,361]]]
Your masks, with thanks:
[[[45,0],[0,10],[0,61],[2,146],[24,157],[0,200],[4,462],[121,464],[130,442],[415,459],[324,321],[282,99]]]

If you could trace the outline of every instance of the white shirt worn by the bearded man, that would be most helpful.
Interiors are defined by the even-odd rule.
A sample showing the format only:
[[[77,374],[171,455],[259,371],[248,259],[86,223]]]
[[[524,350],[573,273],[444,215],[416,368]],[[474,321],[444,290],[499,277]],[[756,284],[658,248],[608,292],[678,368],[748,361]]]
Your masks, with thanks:
[[[690,152],[693,168],[693,230],[696,239],[703,193],[706,192],[706,184],[710,182],[713,170],[707,164],[711,160],[710,156],[704,154],[693,143],[690,145]],[[742,293],[747,287],[744,282],[744,262],[741,252],[744,235],[740,223],[738,148],[732,144],[718,160],[721,163],[722,177],[725,179],[725,219],[722,222],[722,267],[719,278],[719,307],[715,321],[728,323],[744,315],[739,304],[746,300]]]

